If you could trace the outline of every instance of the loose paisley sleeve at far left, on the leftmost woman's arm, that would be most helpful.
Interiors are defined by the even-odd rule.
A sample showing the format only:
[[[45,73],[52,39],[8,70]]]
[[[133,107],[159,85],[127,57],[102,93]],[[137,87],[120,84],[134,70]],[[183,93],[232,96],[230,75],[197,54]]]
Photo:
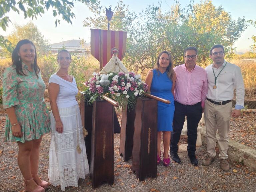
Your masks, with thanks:
[[[17,73],[13,67],[6,68],[3,76],[3,108],[7,109],[19,104],[17,97]]]

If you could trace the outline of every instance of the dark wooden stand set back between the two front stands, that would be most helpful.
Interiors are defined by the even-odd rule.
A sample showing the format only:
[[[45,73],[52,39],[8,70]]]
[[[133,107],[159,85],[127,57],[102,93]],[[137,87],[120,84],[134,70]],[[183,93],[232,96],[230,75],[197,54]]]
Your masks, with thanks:
[[[133,133],[134,133],[135,109],[122,111],[122,123],[120,134],[119,155],[127,162],[132,156]]]

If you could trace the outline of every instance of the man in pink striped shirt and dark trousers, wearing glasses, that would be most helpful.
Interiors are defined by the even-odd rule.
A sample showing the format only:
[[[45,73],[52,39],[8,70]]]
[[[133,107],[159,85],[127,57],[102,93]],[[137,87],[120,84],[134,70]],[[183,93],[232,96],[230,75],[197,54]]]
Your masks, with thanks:
[[[181,130],[187,116],[188,156],[190,162],[197,166],[195,157],[197,126],[204,112],[204,101],[207,93],[207,74],[204,68],[196,65],[197,49],[188,47],[184,51],[185,64],[176,66],[176,82],[174,89],[175,112],[173,131],[171,133],[170,154],[175,163],[182,163],[178,156],[178,143]]]

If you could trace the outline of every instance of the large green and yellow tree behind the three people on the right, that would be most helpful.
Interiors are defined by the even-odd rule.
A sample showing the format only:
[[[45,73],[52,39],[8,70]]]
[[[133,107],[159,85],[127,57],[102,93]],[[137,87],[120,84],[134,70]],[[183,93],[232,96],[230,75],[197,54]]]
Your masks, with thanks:
[[[102,10],[100,2],[91,8],[98,11],[94,11],[95,18],[86,18],[85,25],[106,29],[106,18],[99,11]],[[227,53],[233,53],[234,42],[248,26],[244,18],[232,20],[228,12],[221,6],[215,7],[210,0],[185,8],[177,2],[165,13],[160,3],[153,4],[138,16],[119,1],[117,10],[113,15],[116,22],[111,22],[110,27],[128,32],[123,62],[138,73],[153,68],[157,54],[163,50],[171,52],[175,65],[184,63],[183,51],[188,46],[198,48],[199,64],[209,63],[209,50],[214,44],[223,44]]]

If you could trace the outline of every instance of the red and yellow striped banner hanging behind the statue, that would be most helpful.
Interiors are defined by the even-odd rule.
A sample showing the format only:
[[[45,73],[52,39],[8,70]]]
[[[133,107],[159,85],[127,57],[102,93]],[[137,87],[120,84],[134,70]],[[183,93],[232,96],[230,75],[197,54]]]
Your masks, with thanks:
[[[111,49],[119,49],[118,58],[122,60],[126,50],[126,31],[91,29],[91,54],[100,62],[100,70],[109,62]]]

